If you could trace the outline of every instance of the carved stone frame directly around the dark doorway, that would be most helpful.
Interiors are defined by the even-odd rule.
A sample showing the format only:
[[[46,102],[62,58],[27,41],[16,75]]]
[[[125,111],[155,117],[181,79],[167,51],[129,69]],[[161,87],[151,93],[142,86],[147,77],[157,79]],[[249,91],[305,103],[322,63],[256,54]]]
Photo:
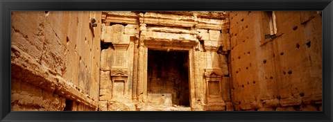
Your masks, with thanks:
[[[142,27],[143,26],[143,27]],[[142,24],[140,28],[145,28],[146,24]],[[148,82],[148,49],[160,51],[188,51],[189,63],[189,105],[191,106],[191,99],[194,98],[194,50],[198,46],[197,40],[178,40],[170,41],[163,40],[163,37],[146,37],[146,33],[142,32],[137,42],[137,100],[146,103],[147,100],[147,82]]]

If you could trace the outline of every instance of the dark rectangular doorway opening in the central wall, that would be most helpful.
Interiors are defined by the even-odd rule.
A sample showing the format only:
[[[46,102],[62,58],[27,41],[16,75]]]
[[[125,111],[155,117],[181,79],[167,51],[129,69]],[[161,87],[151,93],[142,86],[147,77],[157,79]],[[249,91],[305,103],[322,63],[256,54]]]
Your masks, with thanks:
[[[173,105],[189,106],[188,58],[188,51],[148,49],[148,94],[162,94],[160,98],[169,97]]]

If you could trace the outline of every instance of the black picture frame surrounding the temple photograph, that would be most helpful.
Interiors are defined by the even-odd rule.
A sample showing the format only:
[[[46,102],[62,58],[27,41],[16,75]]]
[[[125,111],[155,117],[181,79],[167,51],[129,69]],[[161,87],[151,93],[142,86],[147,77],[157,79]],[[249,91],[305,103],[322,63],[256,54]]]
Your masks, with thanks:
[[[0,0],[1,121],[332,121],[332,0]],[[10,11],[323,10],[323,112],[10,112]]]

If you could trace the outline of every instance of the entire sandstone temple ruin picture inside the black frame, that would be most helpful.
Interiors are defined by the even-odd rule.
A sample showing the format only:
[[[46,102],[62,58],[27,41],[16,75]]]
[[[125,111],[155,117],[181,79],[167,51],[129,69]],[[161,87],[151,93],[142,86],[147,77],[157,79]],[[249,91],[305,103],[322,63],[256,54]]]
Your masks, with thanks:
[[[321,12],[12,12],[13,111],[321,111]]]

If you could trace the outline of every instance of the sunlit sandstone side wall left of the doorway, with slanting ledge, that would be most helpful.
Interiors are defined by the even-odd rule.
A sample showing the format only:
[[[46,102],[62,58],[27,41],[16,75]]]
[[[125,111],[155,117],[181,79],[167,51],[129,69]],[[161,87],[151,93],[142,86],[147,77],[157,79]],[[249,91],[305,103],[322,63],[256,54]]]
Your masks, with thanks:
[[[11,17],[12,110],[97,110],[101,12]]]

